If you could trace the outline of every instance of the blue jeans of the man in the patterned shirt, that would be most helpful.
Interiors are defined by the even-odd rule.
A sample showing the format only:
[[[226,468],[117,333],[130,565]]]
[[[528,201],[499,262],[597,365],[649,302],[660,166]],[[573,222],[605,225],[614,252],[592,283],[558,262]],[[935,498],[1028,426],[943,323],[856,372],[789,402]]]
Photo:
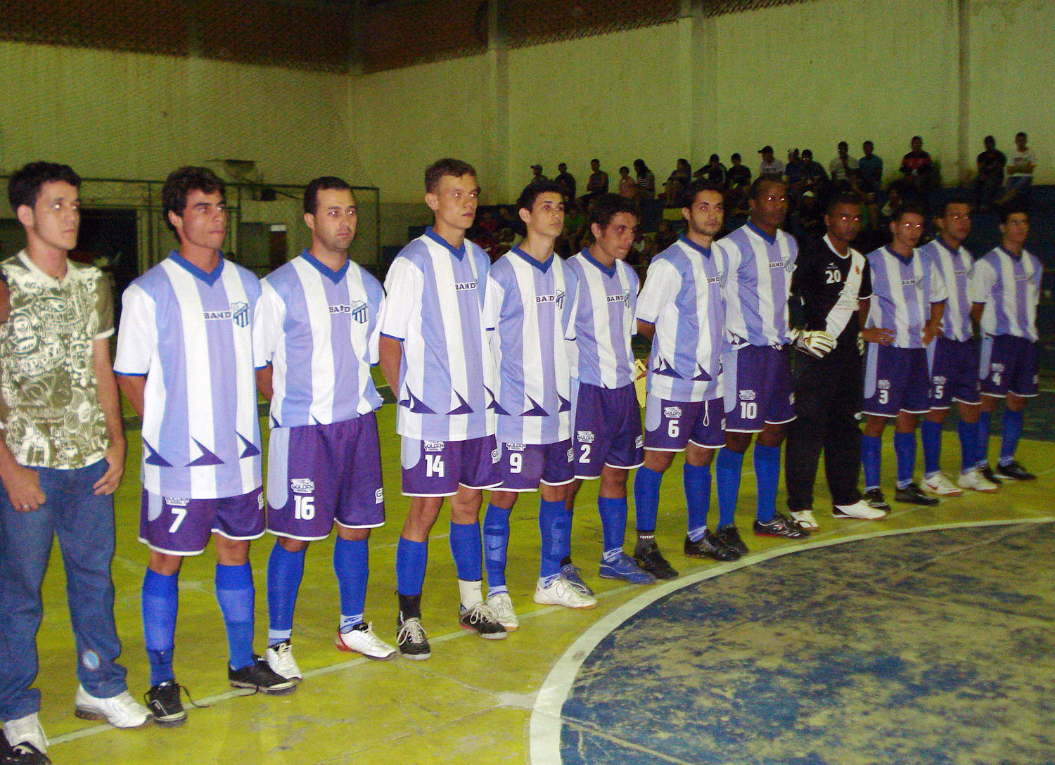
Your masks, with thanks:
[[[58,535],[66,575],[66,598],[77,640],[77,677],[94,696],[128,689],[117,664],[121,644],[114,625],[114,500],[97,497],[92,484],[106,473],[101,460],[79,470],[38,467],[47,496],[37,510],[15,510],[0,490],[0,719],[40,710],[37,631],[43,615],[40,584]]]

